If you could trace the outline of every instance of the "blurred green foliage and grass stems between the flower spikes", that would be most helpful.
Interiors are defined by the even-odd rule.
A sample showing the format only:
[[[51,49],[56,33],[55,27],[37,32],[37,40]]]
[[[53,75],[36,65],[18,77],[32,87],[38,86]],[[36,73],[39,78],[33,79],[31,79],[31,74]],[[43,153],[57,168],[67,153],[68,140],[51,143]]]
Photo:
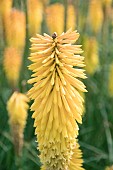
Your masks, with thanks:
[[[51,0],[50,3],[55,3]],[[61,2],[60,0],[57,2]],[[65,0],[62,0],[65,6]],[[88,13],[88,0],[75,0],[79,13],[86,18]],[[13,6],[26,10],[26,0],[15,0]],[[113,21],[112,21],[113,22]],[[44,23],[43,23],[44,24]],[[87,75],[85,84],[88,93],[85,94],[85,113],[83,124],[80,125],[79,143],[83,150],[84,168],[86,170],[104,170],[107,165],[113,164],[113,98],[109,95],[108,74],[109,65],[113,62],[113,23],[108,21],[103,24],[101,32],[93,35],[87,22],[84,27],[78,26],[80,33],[79,44],[83,43],[85,35],[96,36],[99,43],[100,67],[93,75]],[[43,25],[44,28],[44,25]],[[28,31],[28,30],[27,30]],[[42,30],[43,32],[43,30]],[[48,32],[48,31],[47,31]],[[1,35],[1,34],[0,34]],[[40,169],[36,137],[34,135],[32,113],[29,111],[27,125],[25,128],[25,143],[20,160],[14,153],[10,128],[8,124],[8,113],[6,102],[12,90],[6,80],[3,70],[3,37],[0,38],[0,170],[34,170]],[[26,92],[30,86],[23,87],[22,81],[30,78],[27,66],[29,61],[30,42],[28,32],[24,52],[22,70],[20,74],[19,89]],[[111,77],[113,79],[113,77]],[[19,166],[18,166],[19,165]]]

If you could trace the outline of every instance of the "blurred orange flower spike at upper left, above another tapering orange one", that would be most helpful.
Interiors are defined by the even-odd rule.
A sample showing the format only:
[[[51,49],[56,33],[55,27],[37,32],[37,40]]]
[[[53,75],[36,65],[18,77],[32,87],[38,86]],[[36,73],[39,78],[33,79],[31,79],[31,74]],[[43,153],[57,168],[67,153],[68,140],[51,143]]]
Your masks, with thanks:
[[[24,50],[26,38],[25,13],[12,9],[5,24],[5,37],[9,47],[14,47],[20,51]]]

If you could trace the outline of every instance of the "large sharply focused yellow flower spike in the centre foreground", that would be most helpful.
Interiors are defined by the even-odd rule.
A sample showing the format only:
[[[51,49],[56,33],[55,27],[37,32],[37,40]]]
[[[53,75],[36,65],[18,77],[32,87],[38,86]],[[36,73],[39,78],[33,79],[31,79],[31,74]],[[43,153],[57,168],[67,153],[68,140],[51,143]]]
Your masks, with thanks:
[[[76,168],[76,163],[71,165],[71,161],[77,146],[77,122],[82,123],[83,109],[78,90],[86,92],[80,80],[86,78],[81,45],[74,45],[78,37],[77,31],[68,30],[60,36],[37,34],[31,38],[29,59],[33,64],[29,69],[34,73],[28,82],[34,85],[28,95],[34,100],[32,117],[40,159],[46,170]]]

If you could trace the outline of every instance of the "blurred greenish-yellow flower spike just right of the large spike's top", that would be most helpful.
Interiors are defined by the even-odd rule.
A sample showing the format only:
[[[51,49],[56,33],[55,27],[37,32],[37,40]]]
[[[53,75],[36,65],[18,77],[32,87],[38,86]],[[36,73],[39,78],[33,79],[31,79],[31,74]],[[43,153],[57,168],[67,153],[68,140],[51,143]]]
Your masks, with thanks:
[[[94,74],[99,67],[98,42],[95,37],[85,37],[84,39],[84,56],[86,71],[89,74]]]

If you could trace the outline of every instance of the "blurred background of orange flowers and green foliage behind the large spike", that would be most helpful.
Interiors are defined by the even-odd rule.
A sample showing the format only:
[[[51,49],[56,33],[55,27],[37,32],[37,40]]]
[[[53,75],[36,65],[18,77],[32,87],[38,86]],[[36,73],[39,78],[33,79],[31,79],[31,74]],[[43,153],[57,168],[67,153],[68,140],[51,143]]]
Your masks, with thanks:
[[[69,28],[80,33],[77,44],[82,44],[88,77],[79,131],[84,168],[113,169],[113,1],[0,0],[0,170],[40,169],[32,112],[26,109],[26,119],[17,128],[22,131],[15,136],[7,101],[15,91],[26,96],[30,89],[30,37],[60,35]]]

